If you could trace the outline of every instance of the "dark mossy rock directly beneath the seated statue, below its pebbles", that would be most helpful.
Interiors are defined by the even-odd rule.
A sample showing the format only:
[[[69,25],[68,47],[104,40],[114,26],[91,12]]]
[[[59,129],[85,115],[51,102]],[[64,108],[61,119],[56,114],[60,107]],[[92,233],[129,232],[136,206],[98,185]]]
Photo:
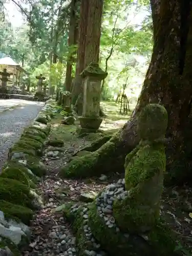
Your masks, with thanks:
[[[121,230],[116,231],[114,227],[108,227],[93,203],[89,210],[89,226],[97,241],[111,256],[127,255],[127,252],[136,256],[177,255],[175,237],[160,221],[152,231],[143,236],[123,233]]]

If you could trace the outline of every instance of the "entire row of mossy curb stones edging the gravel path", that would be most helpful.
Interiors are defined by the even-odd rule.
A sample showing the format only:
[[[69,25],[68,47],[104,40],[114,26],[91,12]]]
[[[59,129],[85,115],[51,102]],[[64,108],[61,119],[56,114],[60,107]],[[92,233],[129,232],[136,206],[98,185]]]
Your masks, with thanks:
[[[0,182],[0,255],[2,255],[1,253],[8,256],[19,255],[18,248],[29,243],[31,236],[29,221],[34,215],[33,210],[38,209],[42,204],[41,198],[33,190],[35,187],[32,187],[32,184],[34,185],[40,176],[46,174],[46,167],[40,162],[40,156],[51,129],[50,117],[44,113],[49,103],[50,101],[45,103],[19,140],[10,148],[8,160],[3,166],[4,172],[0,174],[0,177],[2,176]],[[36,121],[41,115],[47,120],[47,124]],[[21,141],[20,144],[19,141]],[[37,173],[39,178],[36,176]],[[19,175],[25,180],[22,180]],[[26,180],[29,182],[28,185],[23,182]],[[5,183],[5,188],[2,183]],[[1,189],[3,189],[2,193]],[[19,191],[18,195],[17,191]],[[18,212],[19,208],[20,213]],[[27,219],[25,224],[24,215]],[[16,221],[14,221],[15,218]]]

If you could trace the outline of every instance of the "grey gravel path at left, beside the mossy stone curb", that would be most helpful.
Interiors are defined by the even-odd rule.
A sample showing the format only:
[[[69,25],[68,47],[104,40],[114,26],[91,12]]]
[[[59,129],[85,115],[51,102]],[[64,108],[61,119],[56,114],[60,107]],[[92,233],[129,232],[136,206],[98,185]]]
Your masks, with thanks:
[[[14,100],[11,99],[11,102]],[[6,100],[8,103],[8,100]],[[18,108],[0,113],[0,170],[7,159],[7,153],[13,143],[20,137],[25,126],[37,116],[45,105],[42,102],[16,100]]]

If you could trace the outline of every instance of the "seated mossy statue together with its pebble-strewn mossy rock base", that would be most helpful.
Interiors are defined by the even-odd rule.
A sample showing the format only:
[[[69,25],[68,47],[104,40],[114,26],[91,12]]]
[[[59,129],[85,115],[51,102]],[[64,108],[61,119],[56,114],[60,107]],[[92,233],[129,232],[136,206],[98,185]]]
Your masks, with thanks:
[[[160,216],[167,119],[163,106],[148,104],[138,119],[141,141],[125,160],[125,179],[108,185],[92,203],[64,207],[77,234],[77,255],[180,255]]]

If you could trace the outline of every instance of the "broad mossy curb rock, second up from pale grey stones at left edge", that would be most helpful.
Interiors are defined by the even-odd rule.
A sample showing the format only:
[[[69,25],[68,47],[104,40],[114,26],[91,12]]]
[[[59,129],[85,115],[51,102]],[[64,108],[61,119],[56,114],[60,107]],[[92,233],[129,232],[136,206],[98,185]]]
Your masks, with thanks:
[[[0,200],[33,209],[33,197],[27,185],[17,180],[0,178]]]

